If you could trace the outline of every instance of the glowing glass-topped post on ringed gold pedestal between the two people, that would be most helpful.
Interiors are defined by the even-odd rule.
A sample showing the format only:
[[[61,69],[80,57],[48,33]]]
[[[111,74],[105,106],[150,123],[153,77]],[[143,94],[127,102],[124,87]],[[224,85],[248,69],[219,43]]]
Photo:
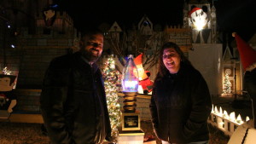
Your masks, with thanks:
[[[143,144],[144,133],[140,128],[140,112],[136,110],[138,80],[137,67],[133,56],[129,55],[122,79],[125,100],[119,127],[119,144]]]

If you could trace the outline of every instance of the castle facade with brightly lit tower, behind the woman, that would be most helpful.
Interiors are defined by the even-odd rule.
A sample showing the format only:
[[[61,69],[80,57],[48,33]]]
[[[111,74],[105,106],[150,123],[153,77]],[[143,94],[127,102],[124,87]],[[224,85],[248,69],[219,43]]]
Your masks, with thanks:
[[[189,14],[194,8],[200,8],[201,19],[205,19],[201,30],[197,30],[194,26],[195,20],[193,19],[197,18]],[[122,27],[119,27],[115,21],[111,27],[116,26],[116,30],[119,31],[105,29],[108,33],[106,35],[108,44],[105,44],[108,47],[105,49],[113,49],[111,50],[113,54],[118,55],[117,60],[122,60],[122,57],[128,54],[136,57],[143,53],[143,67],[151,72],[150,78],[154,79],[161,45],[166,42],[177,43],[192,64],[206,78],[211,94],[220,95],[223,87],[223,61],[221,60],[223,53],[222,43],[217,41],[215,11],[214,6],[211,7],[211,4],[206,1],[191,1],[183,6],[183,26],[161,27],[154,25],[150,18],[144,15],[138,21],[137,26],[133,26],[129,31],[122,31]],[[120,63],[122,64],[122,61]],[[122,66],[121,64],[119,67]]]

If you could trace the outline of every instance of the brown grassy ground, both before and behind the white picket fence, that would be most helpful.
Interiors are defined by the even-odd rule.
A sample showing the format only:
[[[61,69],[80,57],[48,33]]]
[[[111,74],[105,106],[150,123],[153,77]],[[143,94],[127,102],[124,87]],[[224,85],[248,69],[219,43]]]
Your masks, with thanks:
[[[236,112],[241,114],[245,120],[246,116],[251,119],[252,107],[251,101],[247,98],[238,98],[234,103],[234,97],[212,97],[214,106],[222,107],[227,112]],[[42,134],[41,124],[28,123],[9,123],[0,122],[0,144],[49,144],[49,138]],[[155,137],[150,121],[142,121],[141,128],[145,133],[145,140],[153,138],[157,144],[161,142]],[[210,144],[227,144],[230,137],[209,124]]]

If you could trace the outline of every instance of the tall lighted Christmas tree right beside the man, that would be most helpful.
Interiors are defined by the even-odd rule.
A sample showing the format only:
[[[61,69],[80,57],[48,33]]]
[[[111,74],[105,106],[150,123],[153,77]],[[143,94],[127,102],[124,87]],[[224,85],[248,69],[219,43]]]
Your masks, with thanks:
[[[114,141],[117,141],[121,111],[118,102],[118,87],[116,86],[117,84],[119,84],[119,71],[117,71],[115,68],[113,55],[110,55],[108,57],[108,60],[104,63],[102,77],[104,79],[105,91],[107,95],[108,113],[112,129],[112,136]]]

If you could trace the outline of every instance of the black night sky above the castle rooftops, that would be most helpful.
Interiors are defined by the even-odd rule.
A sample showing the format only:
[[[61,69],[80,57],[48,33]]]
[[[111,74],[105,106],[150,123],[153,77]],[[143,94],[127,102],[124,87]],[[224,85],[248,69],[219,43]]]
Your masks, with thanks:
[[[186,0],[188,1],[188,0]],[[212,0],[216,8],[218,30],[237,32],[246,41],[256,32],[255,0]],[[212,1],[209,1],[212,3]],[[131,27],[148,15],[154,25],[183,25],[183,0],[55,0],[59,9],[67,11],[74,25],[83,32],[103,22]],[[85,4],[84,4],[85,3]]]

